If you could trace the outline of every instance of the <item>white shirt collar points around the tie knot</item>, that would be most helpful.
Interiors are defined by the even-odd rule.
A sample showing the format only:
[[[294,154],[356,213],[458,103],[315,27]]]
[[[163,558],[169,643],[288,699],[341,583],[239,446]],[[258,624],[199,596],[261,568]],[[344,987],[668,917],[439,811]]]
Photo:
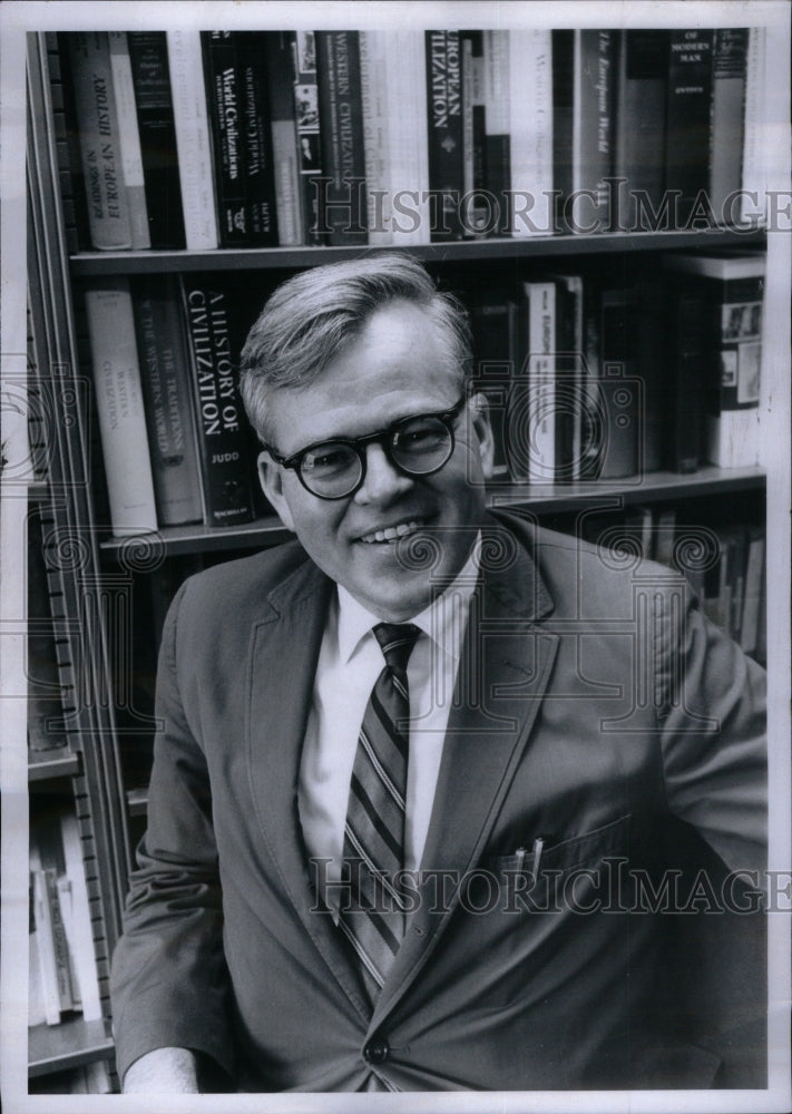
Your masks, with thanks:
[[[441,649],[459,661],[462,653],[462,636],[479,573],[481,532],[470,550],[470,555],[456,579],[441,596],[436,597],[422,612],[404,622],[414,623]],[[349,662],[361,641],[381,623],[377,615],[363,607],[346,588],[338,585],[338,639],[342,662]]]

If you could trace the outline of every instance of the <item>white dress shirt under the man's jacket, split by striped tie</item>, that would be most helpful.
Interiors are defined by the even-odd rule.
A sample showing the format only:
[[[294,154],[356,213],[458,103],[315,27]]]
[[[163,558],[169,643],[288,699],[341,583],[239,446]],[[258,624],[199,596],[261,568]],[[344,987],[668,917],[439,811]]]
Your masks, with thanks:
[[[453,584],[409,620],[421,634],[407,667],[411,719],[404,821],[407,870],[419,868],[427,840],[470,597],[478,576],[478,549],[477,544]],[[316,664],[297,797],[309,858],[332,860],[326,868],[329,881],[341,877],[358,734],[371,690],[384,666],[373,634],[380,622],[339,586]]]

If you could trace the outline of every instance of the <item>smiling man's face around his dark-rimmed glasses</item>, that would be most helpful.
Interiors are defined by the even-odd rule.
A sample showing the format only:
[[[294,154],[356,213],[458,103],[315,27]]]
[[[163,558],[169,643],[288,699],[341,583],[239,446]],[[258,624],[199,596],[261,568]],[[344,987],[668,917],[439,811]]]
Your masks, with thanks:
[[[400,301],[378,310],[310,387],[273,392],[274,447],[290,457],[316,441],[363,437],[400,418],[451,409],[461,391],[448,346],[419,306]],[[265,452],[260,457],[264,491],[283,522],[327,576],[388,622],[427,606],[431,577],[448,584],[460,571],[481,522],[492,467],[483,399],[470,400],[453,431],[453,453],[431,476],[404,476],[381,444],[366,446],[362,487],[333,501],[306,491],[295,471]],[[422,538],[439,554],[431,571],[404,559]]]

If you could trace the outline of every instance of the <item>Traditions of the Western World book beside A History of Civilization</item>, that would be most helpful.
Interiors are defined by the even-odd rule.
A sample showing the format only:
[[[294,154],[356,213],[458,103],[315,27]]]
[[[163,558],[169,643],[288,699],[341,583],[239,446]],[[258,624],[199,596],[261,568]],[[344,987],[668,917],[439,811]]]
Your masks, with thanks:
[[[201,480],[178,280],[147,275],[133,280],[131,293],[157,521],[160,527],[197,522]]]

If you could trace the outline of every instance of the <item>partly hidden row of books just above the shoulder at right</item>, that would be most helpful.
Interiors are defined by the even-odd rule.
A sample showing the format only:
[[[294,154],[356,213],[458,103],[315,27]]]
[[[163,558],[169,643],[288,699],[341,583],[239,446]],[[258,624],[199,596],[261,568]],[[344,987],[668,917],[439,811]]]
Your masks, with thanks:
[[[704,613],[741,648],[766,661],[766,553],[760,526],[677,521],[673,507],[637,506],[604,526],[584,520],[586,540],[638,563],[659,561],[684,574]]]

